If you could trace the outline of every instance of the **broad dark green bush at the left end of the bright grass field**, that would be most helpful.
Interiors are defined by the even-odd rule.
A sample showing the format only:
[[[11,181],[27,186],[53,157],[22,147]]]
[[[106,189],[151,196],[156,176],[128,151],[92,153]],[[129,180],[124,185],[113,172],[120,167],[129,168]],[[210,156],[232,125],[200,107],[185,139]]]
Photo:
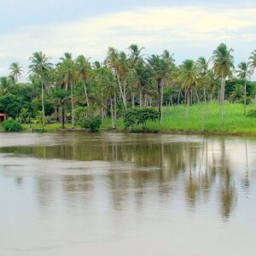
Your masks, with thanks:
[[[143,125],[146,127],[148,120],[158,119],[159,112],[155,108],[131,108],[124,112],[124,124],[126,128],[133,128],[134,125]]]

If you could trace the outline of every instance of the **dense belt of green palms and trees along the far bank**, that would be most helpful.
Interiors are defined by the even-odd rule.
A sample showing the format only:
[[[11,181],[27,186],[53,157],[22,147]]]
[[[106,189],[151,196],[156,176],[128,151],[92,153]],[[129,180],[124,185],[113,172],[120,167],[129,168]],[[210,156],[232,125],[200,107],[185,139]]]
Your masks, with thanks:
[[[207,131],[209,113],[212,108],[216,110],[216,104],[209,102],[218,102],[218,125],[226,120],[225,101],[243,104],[243,115],[251,119],[254,116],[251,106],[256,101],[256,84],[250,78],[256,67],[256,50],[237,68],[232,52],[219,44],[210,60],[199,57],[180,65],[167,50],[162,55],[145,56],[143,48],[136,44],[127,52],[109,48],[102,63],[65,53],[54,65],[48,56],[35,52],[30,57],[26,83],[19,82],[23,68],[17,62],[10,65],[9,76],[0,78],[0,110],[23,124],[38,123],[43,127],[61,123],[62,128],[80,126],[97,131],[110,119],[112,128],[124,120],[125,127],[140,124],[145,129],[148,119],[157,115],[160,123],[153,126],[162,129],[170,118],[172,130],[173,124],[183,118],[186,125],[174,130],[189,130],[197,106],[197,123],[201,125],[198,131]],[[178,107],[182,105],[185,108]],[[173,116],[167,117],[163,110],[172,106],[177,106],[176,110],[169,111]],[[175,115],[177,109],[184,109],[183,114]],[[137,117],[131,121],[129,115],[134,114]]]

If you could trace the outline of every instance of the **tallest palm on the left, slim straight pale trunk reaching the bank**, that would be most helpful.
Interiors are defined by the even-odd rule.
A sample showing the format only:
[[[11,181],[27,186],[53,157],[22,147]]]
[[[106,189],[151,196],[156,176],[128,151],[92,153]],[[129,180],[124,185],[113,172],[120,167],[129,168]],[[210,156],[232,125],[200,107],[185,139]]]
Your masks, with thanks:
[[[29,65],[29,72],[38,76],[41,79],[41,93],[42,93],[42,112],[43,119],[44,113],[44,83],[45,79],[48,78],[49,71],[52,64],[49,62],[49,57],[43,54],[41,51],[35,52],[30,57],[31,65]],[[44,125],[43,125],[44,126]]]

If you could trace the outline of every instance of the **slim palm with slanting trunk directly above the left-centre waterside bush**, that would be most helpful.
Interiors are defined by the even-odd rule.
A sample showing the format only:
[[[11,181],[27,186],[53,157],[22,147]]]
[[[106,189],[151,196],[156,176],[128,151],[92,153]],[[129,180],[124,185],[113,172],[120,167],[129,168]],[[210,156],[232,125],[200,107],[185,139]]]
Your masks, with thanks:
[[[84,95],[85,95],[85,100],[86,104],[89,107],[89,99],[88,99],[88,93],[87,93],[87,88],[86,88],[86,82],[89,79],[89,74],[90,74],[90,62],[89,59],[85,58],[84,55],[79,55],[76,59],[76,66],[78,69],[79,77],[82,79],[82,82],[84,84]]]

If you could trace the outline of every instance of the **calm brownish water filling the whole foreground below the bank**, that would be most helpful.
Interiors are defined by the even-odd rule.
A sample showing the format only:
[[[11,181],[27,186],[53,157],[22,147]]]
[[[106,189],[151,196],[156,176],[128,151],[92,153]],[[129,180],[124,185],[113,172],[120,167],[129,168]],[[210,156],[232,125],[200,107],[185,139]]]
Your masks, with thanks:
[[[256,140],[0,134],[0,255],[256,255]]]

